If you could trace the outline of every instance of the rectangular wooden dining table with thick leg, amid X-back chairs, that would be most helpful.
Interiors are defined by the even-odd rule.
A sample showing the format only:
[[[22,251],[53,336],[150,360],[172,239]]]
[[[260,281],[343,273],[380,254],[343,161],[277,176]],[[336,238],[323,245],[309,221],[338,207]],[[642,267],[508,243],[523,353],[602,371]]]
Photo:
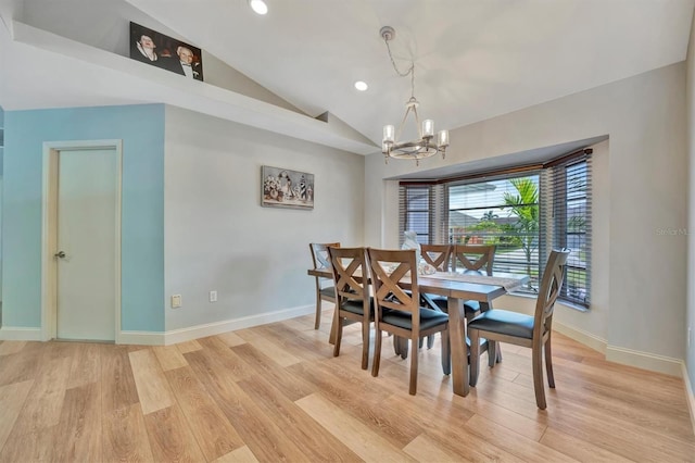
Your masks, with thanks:
[[[332,278],[329,268],[309,268],[307,274]],[[406,277],[407,278],[407,277]],[[482,311],[492,308],[492,301],[529,280],[528,275],[494,273],[493,275],[466,275],[456,272],[437,272],[418,275],[417,286],[421,293],[446,297],[448,329],[452,340],[452,378],[454,393],[467,396],[470,390],[468,377],[468,346],[466,345],[465,301],[479,301]],[[401,280],[407,287],[409,279]],[[458,342],[454,342],[458,339]]]

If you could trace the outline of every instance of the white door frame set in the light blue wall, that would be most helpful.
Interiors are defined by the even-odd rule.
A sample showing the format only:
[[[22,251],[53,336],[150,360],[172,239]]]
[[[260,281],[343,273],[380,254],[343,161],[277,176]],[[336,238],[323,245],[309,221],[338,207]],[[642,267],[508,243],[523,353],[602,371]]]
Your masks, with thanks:
[[[123,140],[71,140],[43,142],[43,178],[41,199],[41,339],[56,336],[58,318],[58,180],[61,151],[115,150],[116,152],[116,217],[115,217],[115,306],[114,339],[121,341],[121,202],[123,179]]]

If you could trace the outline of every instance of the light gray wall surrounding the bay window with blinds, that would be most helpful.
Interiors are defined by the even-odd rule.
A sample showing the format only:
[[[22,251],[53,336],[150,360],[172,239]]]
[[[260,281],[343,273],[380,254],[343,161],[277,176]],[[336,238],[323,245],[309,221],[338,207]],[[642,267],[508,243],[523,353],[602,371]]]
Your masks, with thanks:
[[[593,266],[594,281],[607,293],[594,301],[598,310],[570,317],[564,315],[570,309],[558,308],[558,320],[605,339],[608,359],[656,370],[655,364],[666,362],[680,373],[686,237],[659,230],[687,224],[684,121],[685,64],[679,63],[455,129],[446,160],[428,159],[419,170],[608,135],[608,161],[597,172],[603,180],[595,191],[606,218],[594,226],[599,236],[609,237],[609,245],[605,238],[594,243],[598,264]],[[417,170],[410,162],[384,165],[382,155],[368,157],[367,245],[397,243],[396,188],[384,179]]]

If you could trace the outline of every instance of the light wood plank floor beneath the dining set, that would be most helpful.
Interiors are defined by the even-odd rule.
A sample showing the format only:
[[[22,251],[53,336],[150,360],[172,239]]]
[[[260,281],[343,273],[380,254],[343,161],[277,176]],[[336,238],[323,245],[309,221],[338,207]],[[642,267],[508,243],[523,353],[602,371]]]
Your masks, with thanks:
[[[328,329],[305,316],[169,347],[1,342],[0,461],[695,462],[682,380],[561,335],[539,411],[530,350],[503,346],[462,398],[438,337],[412,397],[390,341],[374,378],[358,326],[339,358]]]

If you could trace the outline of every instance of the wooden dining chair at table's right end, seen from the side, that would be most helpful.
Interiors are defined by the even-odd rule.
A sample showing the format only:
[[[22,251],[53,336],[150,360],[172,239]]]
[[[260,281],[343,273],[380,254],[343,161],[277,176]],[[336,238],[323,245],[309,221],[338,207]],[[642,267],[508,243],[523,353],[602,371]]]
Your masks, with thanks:
[[[468,335],[471,340],[470,385],[478,381],[479,361],[477,346],[480,337],[498,342],[509,342],[516,346],[529,347],[532,350],[533,389],[535,403],[545,410],[545,388],[543,386],[543,353],[545,353],[545,370],[547,384],[555,388],[553,377],[553,355],[551,353],[551,337],[553,327],[553,309],[555,300],[563,289],[563,279],[567,258],[570,250],[553,250],[545,264],[541,288],[535,302],[533,315],[525,315],[503,309],[491,309],[482,312],[468,323]],[[545,352],[544,352],[545,351]]]

